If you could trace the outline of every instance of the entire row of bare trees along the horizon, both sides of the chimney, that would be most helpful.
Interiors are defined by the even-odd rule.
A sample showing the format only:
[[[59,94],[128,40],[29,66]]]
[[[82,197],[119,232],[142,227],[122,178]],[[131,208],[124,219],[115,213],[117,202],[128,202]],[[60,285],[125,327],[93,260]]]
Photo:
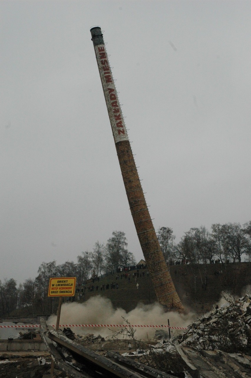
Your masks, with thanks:
[[[211,232],[200,226],[184,233],[179,243],[169,227],[158,229],[158,239],[168,265],[175,263],[221,263],[250,261],[251,221],[241,226],[239,223],[219,223],[211,226]],[[0,280],[0,317],[8,317],[14,310],[29,311],[29,315],[51,314],[55,310],[56,298],[48,297],[48,284],[51,277],[77,277],[77,283],[91,277],[116,272],[118,268],[135,266],[134,255],[127,249],[123,231],[112,232],[106,245],[97,241],[92,252],[82,252],[77,263],[66,261],[57,265],[56,261],[43,262],[35,279],[26,279],[17,287],[11,279]]]

